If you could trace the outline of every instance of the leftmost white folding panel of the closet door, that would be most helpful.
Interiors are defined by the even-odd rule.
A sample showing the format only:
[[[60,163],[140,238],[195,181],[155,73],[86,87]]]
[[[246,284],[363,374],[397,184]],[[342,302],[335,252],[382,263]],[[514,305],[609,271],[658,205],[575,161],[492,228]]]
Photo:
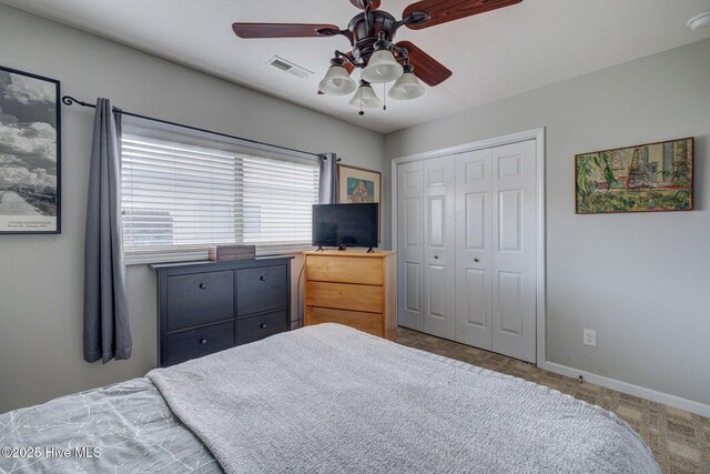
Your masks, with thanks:
[[[424,164],[397,167],[398,324],[424,331]]]

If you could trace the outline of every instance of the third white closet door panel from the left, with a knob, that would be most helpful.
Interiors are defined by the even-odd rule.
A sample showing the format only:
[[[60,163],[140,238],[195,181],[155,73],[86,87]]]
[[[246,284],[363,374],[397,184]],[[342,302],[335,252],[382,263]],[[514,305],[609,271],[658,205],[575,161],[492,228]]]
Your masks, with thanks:
[[[456,155],[456,341],[491,349],[491,151]]]

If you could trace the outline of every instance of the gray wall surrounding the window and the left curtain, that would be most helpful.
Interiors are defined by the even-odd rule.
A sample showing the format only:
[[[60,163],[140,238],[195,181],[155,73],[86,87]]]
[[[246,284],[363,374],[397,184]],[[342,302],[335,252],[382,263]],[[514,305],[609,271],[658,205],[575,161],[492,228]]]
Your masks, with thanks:
[[[0,6],[0,63],[58,79],[63,94],[80,100],[108,97],[124,110],[334,151],[348,164],[383,169],[381,134],[6,6]],[[106,365],[82,360],[92,117],[90,109],[62,110],[62,234],[0,235],[0,413],[140,376],[155,365],[155,278],[145,265],[128,270],[132,359]]]

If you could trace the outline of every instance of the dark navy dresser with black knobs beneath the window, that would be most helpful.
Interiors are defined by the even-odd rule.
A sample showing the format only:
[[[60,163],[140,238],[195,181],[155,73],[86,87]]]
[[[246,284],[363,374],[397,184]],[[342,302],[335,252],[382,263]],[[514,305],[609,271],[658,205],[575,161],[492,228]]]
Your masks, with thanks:
[[[150,265],[158,273],[159,366],[287,331],[291,260]]]

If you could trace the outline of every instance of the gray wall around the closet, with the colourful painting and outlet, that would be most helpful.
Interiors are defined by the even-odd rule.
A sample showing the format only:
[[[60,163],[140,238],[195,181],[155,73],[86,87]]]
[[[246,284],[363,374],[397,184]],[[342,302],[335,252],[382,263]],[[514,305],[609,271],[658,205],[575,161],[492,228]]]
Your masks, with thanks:
[[[392,133],[385,154],[539,127],[548,361],[710,404],[710,40]],[[684,137],[696,137],[694,211],[575,214],[576,153]]]

